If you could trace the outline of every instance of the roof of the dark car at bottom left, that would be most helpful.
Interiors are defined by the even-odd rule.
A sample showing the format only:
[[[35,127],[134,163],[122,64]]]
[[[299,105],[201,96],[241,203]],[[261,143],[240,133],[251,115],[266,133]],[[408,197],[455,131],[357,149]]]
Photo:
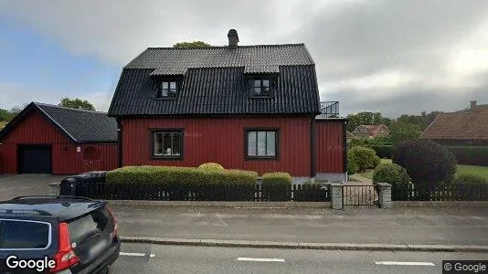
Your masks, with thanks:
[[[0,216],[47,216],[59,221],[82,216],[106,202],[78,197],[31,196],[0,202]]]

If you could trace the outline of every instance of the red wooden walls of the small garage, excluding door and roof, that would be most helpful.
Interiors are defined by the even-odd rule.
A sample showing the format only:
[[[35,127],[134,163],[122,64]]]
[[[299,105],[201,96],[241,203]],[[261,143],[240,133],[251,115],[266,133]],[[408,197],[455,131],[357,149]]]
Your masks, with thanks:
[[[76,144],[37,111],[30,111],[5,134],[0,145],[0,173],[16,174],[17,144],[51,144],[53,174],[80,174],[117,167],[115,143]],[[80,147],[80,153],[77,152]],[[89,149],[91,147],[92,149]],[[88,150],[88,151],[87,151]],[[90,153],[91,150],[91,153]]]

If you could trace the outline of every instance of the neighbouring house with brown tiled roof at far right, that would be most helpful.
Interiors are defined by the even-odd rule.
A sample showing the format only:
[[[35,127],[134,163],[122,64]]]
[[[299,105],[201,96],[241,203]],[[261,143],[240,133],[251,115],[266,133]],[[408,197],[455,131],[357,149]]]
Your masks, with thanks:
[[[488,104],[477,105],[464,111],[440,113],[420,138],[441,144],[471,145],[488,144]]]

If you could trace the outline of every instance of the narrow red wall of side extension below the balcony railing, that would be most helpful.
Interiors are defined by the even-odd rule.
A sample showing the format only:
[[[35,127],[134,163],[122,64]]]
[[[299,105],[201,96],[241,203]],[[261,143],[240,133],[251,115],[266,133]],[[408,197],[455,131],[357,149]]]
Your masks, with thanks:
[[[345,173],[344,127],[345,121],[317,120],[317,173]]]

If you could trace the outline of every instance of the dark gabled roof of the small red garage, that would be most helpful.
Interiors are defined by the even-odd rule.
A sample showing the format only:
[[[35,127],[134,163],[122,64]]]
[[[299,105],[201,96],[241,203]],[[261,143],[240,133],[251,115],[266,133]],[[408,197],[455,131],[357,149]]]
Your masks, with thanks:
[[[31,102],[0,132],[0,139],[31,110],[37,110],[73,142],[117,142],[117,121],[105,112]]]

